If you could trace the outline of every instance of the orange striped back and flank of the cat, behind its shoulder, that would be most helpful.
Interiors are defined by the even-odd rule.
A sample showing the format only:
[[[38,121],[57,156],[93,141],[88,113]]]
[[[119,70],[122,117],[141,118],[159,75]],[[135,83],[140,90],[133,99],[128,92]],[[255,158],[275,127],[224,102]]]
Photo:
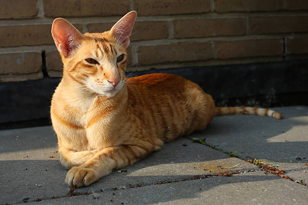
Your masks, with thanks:
[[[211,96],[181,76],[153,73],[126,81],[128,104],[133,114],[163,141],[204,129],[198,122],[207,124],[214,116]]]

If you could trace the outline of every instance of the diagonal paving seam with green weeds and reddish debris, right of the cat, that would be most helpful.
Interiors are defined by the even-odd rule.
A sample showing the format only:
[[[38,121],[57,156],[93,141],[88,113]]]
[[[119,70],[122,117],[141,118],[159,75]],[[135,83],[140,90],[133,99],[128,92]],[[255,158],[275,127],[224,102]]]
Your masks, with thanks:
[[[251,163],[251,164],[254,164],[254,165],[260,167],[261,169],[263,169],[265,174],[266,174],[266,173],[270,173],[270,174],[274,174],[274,175],[276,175],[276,176],[280,176],[280,177],[282,177],[282,178],[288,179],[288,180],[290,180],[290,181],[294,181],[291,177],[289,177],[289,176],[287,176],[287,175],[284,175],[284,173],[286,172],[285,170],[283,170],[283,169],[277,169],[277,168],[275,168],[275,167],[273,167],[273,166],[271,166],[271,165],[268,165],[268,164],[266,164],[266,163],[264,163],[264,162],[262,162],[262,161],[260,161],[260,160],[257,160],[256,158],[250,157],[250,158],[251,158],[250,160],[242,159],[242,158],[240,158],[237,154],[235,154],[236,151],[235,151],[235,152],[227,152],[227,151],[224,151],[224,150],[222,150],[222,149],[216,148],[215,145],[207,144],[206,141],[205,141],[205,138],[201,138],[201,140],[200,140],[200,139],[199,139],[199,140],[196,140],[196,138],[189,138],[189,137],[185,137],[185,138],[187,138],[187,139],[189,139],[189,140],[192,140],[193,142],[197,142],[197,143],[200,143],[200,144],[205,145],[205,146],[207,146],[207,147],[210,147],[210,148],[212,148],[212,149],[215,149],[215,150],[217,150],[217,151],[223,152],[223,153],[225,153],[225,154],[227,154],[227,155],[229,155],[229,156],[236,157],[236,158],[238,158],[238,159],[241,159],[241,160],[244,160],[244,161],[249,162],[249,163]],[[252,160],[252,159],[254,159],[254,160]],[[307,166],[308,166],[308,165],[307,165]],[[262,170],[262,171],[263,171],[263,170]],[[303,186],[306,186],[306,185],[307,185],[307,184],[304,183],[304,181],[294,181],[294,182],[296,182],[296,183],[298,183],[298,184],[301,184],[301,185],[303,185]]]

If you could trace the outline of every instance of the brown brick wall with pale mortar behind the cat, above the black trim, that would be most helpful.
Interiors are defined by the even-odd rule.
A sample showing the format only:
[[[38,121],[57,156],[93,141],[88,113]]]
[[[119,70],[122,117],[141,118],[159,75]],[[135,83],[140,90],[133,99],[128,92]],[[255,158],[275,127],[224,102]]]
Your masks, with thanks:
[[[54,18],[103,32],[131,10],[127,71],[308,59],[305,0],[1,0],[0,82],[61,76]]]

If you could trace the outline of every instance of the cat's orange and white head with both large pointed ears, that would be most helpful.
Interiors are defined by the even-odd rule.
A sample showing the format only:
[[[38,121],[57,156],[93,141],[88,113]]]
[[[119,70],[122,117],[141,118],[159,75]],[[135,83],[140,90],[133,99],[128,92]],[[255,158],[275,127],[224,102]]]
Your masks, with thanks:
[[[114,96],[125,82],[126,49],[135,20],[136,12],[129,12],[110,31],[82,34],[65,19],[55,19],[51,34],[64,65],[63,77],[83,90]]]

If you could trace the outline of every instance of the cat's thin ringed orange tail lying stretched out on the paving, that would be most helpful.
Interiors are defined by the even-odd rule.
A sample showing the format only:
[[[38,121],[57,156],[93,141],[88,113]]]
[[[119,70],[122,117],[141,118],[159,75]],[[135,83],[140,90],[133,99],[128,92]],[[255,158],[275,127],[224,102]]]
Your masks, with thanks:
[[[252,107],[216,107],[216,115],[257,115],[281,119],[280,113],[265,108]]]

